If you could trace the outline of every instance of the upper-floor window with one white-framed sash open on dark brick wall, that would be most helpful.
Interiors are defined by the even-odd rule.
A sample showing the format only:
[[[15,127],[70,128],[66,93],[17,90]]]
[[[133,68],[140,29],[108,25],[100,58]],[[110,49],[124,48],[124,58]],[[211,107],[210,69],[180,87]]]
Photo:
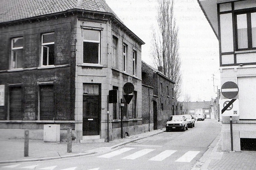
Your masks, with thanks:
[[[41,65],[54,65],[54,32],[42,34]]]

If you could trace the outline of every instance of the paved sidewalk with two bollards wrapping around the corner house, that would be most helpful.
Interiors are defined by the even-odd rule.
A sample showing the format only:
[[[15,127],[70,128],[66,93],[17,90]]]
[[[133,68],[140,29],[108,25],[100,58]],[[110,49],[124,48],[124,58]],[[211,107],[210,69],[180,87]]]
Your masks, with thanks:
[[[115,147],[153,136],[165,131],[153,130],[134,136],[125,136],[111,142],[102,143],[72,143],[72,153],[67,153],[67,142],[52,143],[43,140],[29,140],[29,156],[24,157],[24,139],[0,139],[0,164],[23,161],[39,161],[61,159],[67,157],[85,156],[94,153],[104,153]]]

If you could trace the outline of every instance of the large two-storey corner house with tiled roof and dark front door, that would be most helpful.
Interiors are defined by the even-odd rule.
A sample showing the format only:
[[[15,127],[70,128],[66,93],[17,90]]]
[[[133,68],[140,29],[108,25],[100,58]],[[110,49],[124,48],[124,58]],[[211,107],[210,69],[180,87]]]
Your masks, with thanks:
[[[80,142],[121,138],[142,128],[141,45],[105,0],[1,0],[0,133],[43,139],[58,124]],[[117,103],[108,104],[110,90]],[[109,121],[108,121],[109,120]]]

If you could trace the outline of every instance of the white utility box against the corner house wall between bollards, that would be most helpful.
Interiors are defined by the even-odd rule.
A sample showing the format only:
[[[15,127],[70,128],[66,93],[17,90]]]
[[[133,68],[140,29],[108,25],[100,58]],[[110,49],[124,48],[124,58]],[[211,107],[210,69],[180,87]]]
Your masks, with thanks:
[[[44,125],[44,142],[60,142],[60,125]]]

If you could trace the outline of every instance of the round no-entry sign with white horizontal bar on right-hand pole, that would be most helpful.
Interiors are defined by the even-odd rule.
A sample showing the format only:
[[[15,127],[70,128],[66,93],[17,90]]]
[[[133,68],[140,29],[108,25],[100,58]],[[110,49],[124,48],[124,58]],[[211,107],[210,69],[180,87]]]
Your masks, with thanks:
[[[238,95],[238,85],[235,82],[225,82],[221,86],[221,94],[228,98],[228,99],[233,99]]]

